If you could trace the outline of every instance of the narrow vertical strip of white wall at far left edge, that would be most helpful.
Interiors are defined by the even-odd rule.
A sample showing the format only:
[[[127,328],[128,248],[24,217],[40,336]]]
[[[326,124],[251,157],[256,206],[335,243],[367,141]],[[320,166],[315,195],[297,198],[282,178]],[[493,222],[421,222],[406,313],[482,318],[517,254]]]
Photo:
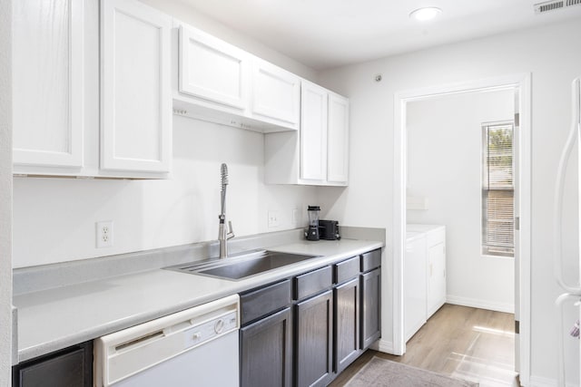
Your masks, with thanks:
[[[12,359],[12,2],[0,2],[0,386]]]

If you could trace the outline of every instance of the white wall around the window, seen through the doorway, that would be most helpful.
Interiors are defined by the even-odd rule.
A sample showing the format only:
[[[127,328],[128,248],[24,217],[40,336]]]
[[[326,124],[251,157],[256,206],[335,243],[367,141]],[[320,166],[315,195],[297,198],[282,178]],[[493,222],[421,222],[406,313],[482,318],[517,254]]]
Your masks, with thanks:
[[[483,122],[512,121],[514,91],[468,92],[409,102],[408,195],[428,209],[408,209],[408,223],[447,231],[448,302],[514,312],[513,258],[482,256]]]

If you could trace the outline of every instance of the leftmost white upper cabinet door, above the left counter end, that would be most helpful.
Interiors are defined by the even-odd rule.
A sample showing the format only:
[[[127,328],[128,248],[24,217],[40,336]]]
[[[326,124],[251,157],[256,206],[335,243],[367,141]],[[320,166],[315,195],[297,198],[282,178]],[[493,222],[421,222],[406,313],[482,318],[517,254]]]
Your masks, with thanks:
[[[15,1],[13,26],[14,163],[82,167],[84,1]]]

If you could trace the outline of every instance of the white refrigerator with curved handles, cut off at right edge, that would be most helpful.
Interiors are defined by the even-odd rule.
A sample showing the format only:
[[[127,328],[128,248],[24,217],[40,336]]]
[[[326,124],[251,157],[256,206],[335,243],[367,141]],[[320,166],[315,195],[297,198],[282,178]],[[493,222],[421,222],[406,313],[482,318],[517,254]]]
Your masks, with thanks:
[[[557,362],[559,387],[570,385],[569,381],[575,380],[576,377],[581,380],[581,374],[578,374],[580,372],[578,362],[574,364],[576,367],[572,368],[572,362],[566,358],[566,353],[570,353],[570,348],[573,345],[579,345],[579,320],[576,320],[576,318],[581,318],[581,313],[578,309],[578,306],[581,304],[581,78],[577,78],[573,81],[571,89],[572,121],[566,139],[566,146],[561,154],[558,166],[555,195],[555,224],[553,228],[555,232],[555,277],[556,282],[564,292],[562,295],[559,295],[555,301],[556,315],[558,316],[556,325],[556,342],[558,348]],[[576,164],[571,160],[572,156],[576,156]],[[569,169],[576,169],[577,174],[575,196],[577,213],[574,214],[576,218],[577,236],[575,241],[576,246],[573,248],[571,248],[571,241],[565,240],[566,237],[570,237],[570,235],[565,236],[563,233],[564,216],[571,216],[570,213],[567,213],[567,209],[570,208],[565,208],[564,212],[564,198],[572,198],[571,191],[575,190],[571,189],[570,184],[567,184],[567,167]],[[567,244],[566,242],[569,243]],[[572,307],[577,308],[575,312],[572,311]],[[577,347],[577,351],[581,355],[581,349],[579,347]],[[566,367],[567,364],[569,365],[568,368]],[[572,375],[571,373],[577,373],[578,375]]]

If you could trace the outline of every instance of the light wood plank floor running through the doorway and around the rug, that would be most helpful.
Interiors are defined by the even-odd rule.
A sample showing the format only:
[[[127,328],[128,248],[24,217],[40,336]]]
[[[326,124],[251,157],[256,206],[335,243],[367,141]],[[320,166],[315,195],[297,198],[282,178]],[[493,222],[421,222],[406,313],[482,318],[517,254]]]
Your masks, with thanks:
[[[480,387],[518,386],[514,351],[514,314],[446,304],[409,340],[406,354],[368,350],[330,386],[344,385],[373,356],[479,382]]]

